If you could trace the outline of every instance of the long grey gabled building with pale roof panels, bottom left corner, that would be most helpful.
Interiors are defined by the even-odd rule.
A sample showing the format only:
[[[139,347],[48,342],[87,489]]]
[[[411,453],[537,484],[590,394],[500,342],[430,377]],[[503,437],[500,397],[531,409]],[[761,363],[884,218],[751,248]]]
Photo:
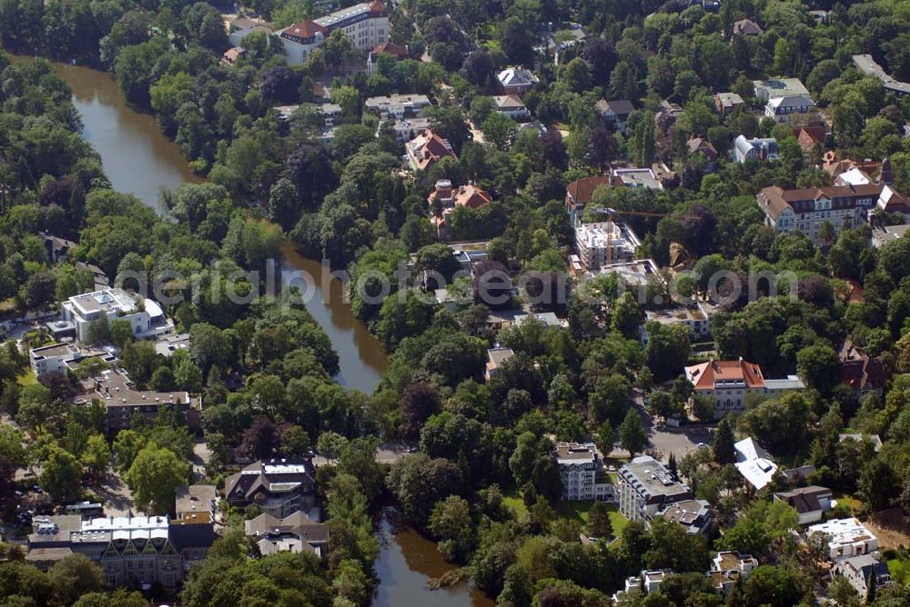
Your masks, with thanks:
[[[215,540],[209,517],[171,521],[167,516],[35,517],[25,560],[46,570],[79,553],[97,562],[107,586],[160,583],[174,588],[189,566],[205,559]]]

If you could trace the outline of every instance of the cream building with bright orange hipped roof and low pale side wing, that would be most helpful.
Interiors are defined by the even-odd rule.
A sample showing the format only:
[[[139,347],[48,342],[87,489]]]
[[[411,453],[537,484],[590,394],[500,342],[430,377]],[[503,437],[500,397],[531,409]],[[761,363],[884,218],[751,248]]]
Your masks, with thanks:
[[[746,394],[773,394],[805,387],[795,375],[785,380],[766,380],[760,366],[742,358],[693,364],[685,367],[685,376],[696,394],[713,397],[716,419],[744,411]]]

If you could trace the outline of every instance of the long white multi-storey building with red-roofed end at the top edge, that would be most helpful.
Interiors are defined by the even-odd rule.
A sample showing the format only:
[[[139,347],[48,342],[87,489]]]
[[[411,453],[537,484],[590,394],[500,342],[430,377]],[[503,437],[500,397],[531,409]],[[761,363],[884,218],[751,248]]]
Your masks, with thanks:
[[[335,30],[347,35],[356,50],[370,51],[389,39],[389,10],[379,0],[373,0],[288,25],[278,32],[288,65],[304,63]]]

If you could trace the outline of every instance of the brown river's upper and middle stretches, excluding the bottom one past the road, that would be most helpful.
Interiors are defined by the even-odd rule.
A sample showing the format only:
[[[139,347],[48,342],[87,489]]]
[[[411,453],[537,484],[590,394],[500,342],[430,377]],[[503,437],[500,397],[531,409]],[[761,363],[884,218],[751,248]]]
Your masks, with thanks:
[[[14,63],[31,57],[8,55]],[[114,189],[135,194],[143,203],[164,213],[161,190],[204,180],[189,169],[177,144],[158,129],[154,116],[142,114],[126,104],[114,78],[105,72],[81,65],[53,63],[73,91],[73,104],[82,116],[83,136],[101,154],[101,164]],[[389,361],[385,348],[360,323],[344,301],[338,281],[326,290],[318,262],[305,259],[289,244],[282,249],[282,277],[293,271],[307,272],[314,292],[307,309],[329,335],[339,353],[337,379],[349,388],[372,393]]]

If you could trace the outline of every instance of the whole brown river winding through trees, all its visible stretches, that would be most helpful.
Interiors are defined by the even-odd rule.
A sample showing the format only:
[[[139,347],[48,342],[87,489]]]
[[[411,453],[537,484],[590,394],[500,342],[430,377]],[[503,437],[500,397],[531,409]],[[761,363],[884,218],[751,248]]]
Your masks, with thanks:
[[[30,57],[7,56],[14,63],[30,60]],[[161,134],[155,118],[136,112],[124,102],[110,75],[82,66],[52,65],[72,89],[73,103],[82,115],[83,135],[101,155],[107,177],[117,190],[135,194],[145,204],[163,212],[159,196],[163,188],[175,189],[185,182],[203,181],[189,170],[177,145]],[[388,366],[382,344],[354,316],[344,301],[341,285],[337,281],[324,284],[319,262],[300,256],[290,244],[282,248],[282,254],[283,279],[288,279],[291,274],[288,271],[303,271],[313,279],[314,292],[307,299],[307,309],[339,353],[339,381],[372,393]],[[379,535],[382,548],[376,562],[379,587],[374,605],[490,607],[493,604],[466,583],[428,590],[426,583],[430,578],[449,571],[452,566],[442,560],[436,544],[420,533],[408,527],[393,529],[388,516],[384,516]]]

